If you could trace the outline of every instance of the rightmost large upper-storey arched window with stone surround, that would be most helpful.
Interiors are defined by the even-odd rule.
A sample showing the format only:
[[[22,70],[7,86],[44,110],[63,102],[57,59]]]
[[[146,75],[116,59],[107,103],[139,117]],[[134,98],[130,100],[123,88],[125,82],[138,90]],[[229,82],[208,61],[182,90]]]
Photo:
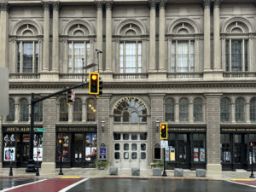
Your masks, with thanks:
[[[244,18],[234,17],[224,22],[222,44],[224,48],[224,66],[226,72],[244,72],[249,70],[249,33],[252,24]],[[251,44],[253,46],[253,44]]]

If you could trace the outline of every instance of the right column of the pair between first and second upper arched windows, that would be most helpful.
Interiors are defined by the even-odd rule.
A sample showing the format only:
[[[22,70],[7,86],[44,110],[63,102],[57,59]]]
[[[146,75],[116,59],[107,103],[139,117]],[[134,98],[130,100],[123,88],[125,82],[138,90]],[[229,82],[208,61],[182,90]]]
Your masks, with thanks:
[[[59,8],[59,2],[53,3],[52,71],[55,73],[59,73]]]

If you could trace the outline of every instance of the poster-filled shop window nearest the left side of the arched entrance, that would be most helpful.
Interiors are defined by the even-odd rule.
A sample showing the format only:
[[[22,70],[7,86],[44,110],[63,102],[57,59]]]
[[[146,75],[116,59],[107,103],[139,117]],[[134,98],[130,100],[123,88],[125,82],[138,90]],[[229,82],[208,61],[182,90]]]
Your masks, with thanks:
[[[87,133],[85,135],[85,160],[96,161],[97,134]]]

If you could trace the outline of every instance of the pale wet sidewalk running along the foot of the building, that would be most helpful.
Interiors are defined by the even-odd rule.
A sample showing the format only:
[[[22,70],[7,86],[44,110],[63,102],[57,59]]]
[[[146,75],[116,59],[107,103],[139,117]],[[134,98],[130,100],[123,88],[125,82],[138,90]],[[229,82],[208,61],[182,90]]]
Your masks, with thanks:
[[[62,177],[59,176],[60,169],[55,169],[55,172],[41,172],[41,178],[54,178],[54,177]],[[85,169],[85,168],[63,168],[62,172],[65,177],[112,177],[109,175],[108,170],[98,170],[96,168]],[[195,171],[184,170],[183,177],[174,177],[173,170],[166,171],[166,178],[180,178],[180,179],[217,179],[217,180],[231,180],[231,179],[249,179],[251,172],[247,172],[245,170],[237,170],[236,172],[207,172],[207,177],[195,177]],[[255,172],[256,174],[256,172]],[[254,174],[254,175],[255,175]],[[14,177],[36,177],[36,173],[26,172],[26,168],[13,168]],[[9,168],[0,169],[0,177],[9,177]],[[116,177],[133,177],[131,176],[131,170],[119,170],[119,175]],[[140,176],[137,177],[154,177],[152,176],[152,170],[146,169],[140,171]],[[162,178],[162,177],[161,177]],[[256,179],[253,179],[256,180]]]

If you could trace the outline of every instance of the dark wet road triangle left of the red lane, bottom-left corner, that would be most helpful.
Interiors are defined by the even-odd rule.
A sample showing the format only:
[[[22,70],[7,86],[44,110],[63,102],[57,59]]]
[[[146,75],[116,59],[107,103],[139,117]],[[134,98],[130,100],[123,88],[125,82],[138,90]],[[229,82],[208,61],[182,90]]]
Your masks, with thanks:
[[[0,190],[8,189],[21,184],[32,183],[38,180],[40,179],[34,177],[0,177]]]

